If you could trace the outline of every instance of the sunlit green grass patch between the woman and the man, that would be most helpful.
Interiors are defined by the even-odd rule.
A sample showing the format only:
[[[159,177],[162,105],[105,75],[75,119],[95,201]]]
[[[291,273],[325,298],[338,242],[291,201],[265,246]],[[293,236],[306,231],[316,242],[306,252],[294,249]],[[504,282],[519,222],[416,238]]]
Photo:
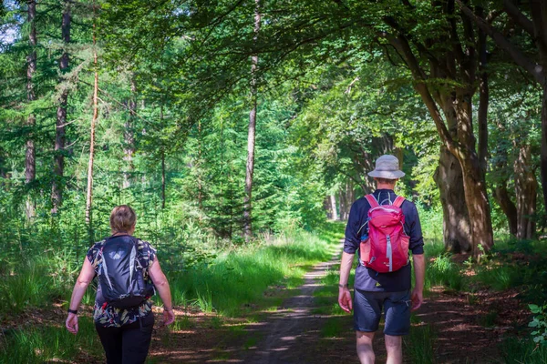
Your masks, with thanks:
[[[237,316],[244,304],[263,302],[263,292],[270,286],[298,287],[304,272],[331,258],[337,244],[335,239],[300,232],[234,249],[207,268],[170,275],[171,290],[179,292],[175,304],[193,303],[205,312]]]

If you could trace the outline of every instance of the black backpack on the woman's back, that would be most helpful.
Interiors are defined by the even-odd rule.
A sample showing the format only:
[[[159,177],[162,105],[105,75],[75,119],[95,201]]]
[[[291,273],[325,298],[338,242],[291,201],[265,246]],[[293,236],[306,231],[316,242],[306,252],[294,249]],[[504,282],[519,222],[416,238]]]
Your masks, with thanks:
[[[108,305],[136,308],[154,294],[154,286],[144,281],[139,240],[129,235],[107,238],[100,254],[98,284]]]

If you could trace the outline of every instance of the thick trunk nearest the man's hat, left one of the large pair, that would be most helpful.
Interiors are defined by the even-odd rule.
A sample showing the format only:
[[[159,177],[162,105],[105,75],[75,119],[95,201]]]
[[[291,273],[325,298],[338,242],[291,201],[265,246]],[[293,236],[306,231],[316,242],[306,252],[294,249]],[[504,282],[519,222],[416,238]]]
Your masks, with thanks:
[[[461,198],[464,196],[461,167],[445,146],[440,147],[439,167],[433,179],[439,187],[445,248],[454,253],[470,252],[470,217],[465,199]]]

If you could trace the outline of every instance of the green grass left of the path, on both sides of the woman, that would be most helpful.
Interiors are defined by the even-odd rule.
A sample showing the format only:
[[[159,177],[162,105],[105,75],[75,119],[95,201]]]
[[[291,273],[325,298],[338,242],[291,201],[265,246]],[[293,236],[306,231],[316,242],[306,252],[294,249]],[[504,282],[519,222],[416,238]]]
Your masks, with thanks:
[[[222,326],[222,315],[237,316],[245,306],[261,304],[269,287],[295,288],[304,272],[319,261],[332,257],[341,238],[341,225],[332,224],[314,235],[304,231],[276,238],[261,239],[246,246],[215,252],[205,264],[185,265],[187,269],[164,268],[170,278],[175,305],[194,306],[215,312],[213,327]],[[216,247],[210,247],[216,248]],[[169,252],[163,252],[169,254]],[[26,309],[48,308],[67,302],[81,261],[70,250],[46,251],[23,258],[17,268],[4,266],[0,271],[0,319],[15,320]],[[83,260],[80,256],[79,260]],[[88,288],[85,304],[92,304],[95,289]],[[174,329],[193,326],[182,318]],[[0,333],[0,363],[44,363],[79,358],[101,357],[102,350],[92,319],[79,319],[74,336],[62,323],[58,325],[23,323],[17,329]]]

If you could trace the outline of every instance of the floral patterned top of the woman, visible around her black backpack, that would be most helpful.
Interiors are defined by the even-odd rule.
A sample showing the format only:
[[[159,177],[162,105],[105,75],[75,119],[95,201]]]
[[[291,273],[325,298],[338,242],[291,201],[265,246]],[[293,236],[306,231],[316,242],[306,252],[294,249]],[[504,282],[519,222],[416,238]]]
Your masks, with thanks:
[[[132,237],[129,235],[119,235],[116,238],[127,239],[128,243],[132,243],[133,241]],[[93,268],[95,268],[96,277],[102,261],[100,250],[105,245],[106,241],[107,239],[101,240],[88,250],[87,257]],[[144,280],[146,283],[152,284],[149,276],[149,268],[156,258],[156,249],[153,248],[148,241],[142,241],[139,238],[137,241],[139,242],[138,259],[140,266],[144,268]],[[119,328],[122,325],[128,325],[137,321],[139,318],[148,316],[151,312],[152,301],[150,299],[144,301],[138,308],[119,309],[109,306],[105,298],[103,298],[100,285],[98,285],[95,306],[93,308],[93,319],[96,323],[105,328]]]

